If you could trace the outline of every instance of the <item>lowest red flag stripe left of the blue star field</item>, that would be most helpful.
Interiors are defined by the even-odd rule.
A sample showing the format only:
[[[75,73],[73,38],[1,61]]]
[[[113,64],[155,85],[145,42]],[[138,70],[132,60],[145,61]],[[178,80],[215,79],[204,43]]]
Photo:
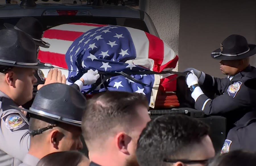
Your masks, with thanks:
[[[49,51],[39,51],[38,59],[43,63],[50,63],[52,65],[59,66],[61,68],[68,69],[67,63],[65,60],[65,54],[58,54]]]

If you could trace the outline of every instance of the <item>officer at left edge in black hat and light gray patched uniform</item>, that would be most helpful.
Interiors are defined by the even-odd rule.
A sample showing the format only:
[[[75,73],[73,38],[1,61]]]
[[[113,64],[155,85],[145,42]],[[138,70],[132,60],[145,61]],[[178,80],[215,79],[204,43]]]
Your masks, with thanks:
[[[28,121],[20,106],[32,99],[35,69],[48,68],[36,59],[32,38],[15,29],[0,30],[0,165],[18,165],[28,151]],[[20,161],[19,161],[20,160]]]

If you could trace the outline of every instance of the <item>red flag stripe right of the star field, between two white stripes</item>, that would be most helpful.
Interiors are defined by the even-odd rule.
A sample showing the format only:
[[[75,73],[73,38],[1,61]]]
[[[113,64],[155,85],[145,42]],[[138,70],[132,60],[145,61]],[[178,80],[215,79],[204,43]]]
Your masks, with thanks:
[[[164,60],[164,42],[158,37],[146,33],[149,41],[148,58],[154,60],[154,72],[161,72],[160,66]]]

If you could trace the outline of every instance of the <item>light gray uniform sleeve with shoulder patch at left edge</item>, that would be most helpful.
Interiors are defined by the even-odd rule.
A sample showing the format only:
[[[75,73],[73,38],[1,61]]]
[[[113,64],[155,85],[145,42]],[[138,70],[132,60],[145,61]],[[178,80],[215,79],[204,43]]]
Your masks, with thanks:
[[[26,117],[17,110],[6,110],[1,116],[0,130],[0,149],[22,161],[30,145]]]

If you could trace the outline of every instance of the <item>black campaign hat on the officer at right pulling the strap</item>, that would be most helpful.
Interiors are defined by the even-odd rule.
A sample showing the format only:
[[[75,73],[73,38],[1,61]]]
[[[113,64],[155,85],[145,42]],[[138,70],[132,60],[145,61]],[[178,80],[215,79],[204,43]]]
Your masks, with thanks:
[[[211,56],[218,60],[238,60],[256,54],[256,45],[248,44],[241,35],[230,35]]]

